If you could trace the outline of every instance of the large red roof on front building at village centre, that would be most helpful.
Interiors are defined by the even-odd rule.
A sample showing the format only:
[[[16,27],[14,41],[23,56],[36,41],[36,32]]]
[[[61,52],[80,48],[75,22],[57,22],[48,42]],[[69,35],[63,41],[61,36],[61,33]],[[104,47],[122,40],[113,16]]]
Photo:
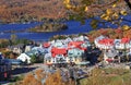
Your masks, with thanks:
[[[57,54],[63,54],[67,56],[67,49],[66,48],[52,48],[51,49],[52,57],[56,57]]]

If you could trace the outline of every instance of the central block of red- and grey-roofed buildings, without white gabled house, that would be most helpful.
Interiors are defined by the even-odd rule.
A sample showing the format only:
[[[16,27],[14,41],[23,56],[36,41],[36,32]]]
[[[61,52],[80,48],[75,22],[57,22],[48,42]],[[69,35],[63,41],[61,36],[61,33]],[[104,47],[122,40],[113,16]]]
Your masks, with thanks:
[[[74,62],[75,64],[81,64],[81,62],[86,61],[86,51],[90,47],[91,44],[86,36],[44,42],[44,48],[47,50],[45,63]]]

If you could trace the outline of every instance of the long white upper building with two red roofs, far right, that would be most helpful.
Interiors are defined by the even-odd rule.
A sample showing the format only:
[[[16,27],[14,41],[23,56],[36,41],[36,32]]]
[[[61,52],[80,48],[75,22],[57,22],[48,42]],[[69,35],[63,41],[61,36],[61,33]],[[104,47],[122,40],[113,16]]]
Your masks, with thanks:
[[[121,38],[121,39],[110,39],[107,37],[98,37],[94,40],[96,47],[99,49],[131,49],[131,40],[130,38]]]

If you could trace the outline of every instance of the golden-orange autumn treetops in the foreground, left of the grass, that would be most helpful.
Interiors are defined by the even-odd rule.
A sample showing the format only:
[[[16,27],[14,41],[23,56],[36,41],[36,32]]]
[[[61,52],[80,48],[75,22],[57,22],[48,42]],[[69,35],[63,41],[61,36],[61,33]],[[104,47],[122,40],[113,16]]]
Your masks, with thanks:
[[[23,81],[15,85],[74,85],[74,81],[64,82],[59,70],[55,73],[46,73],[45,70],[37,69],[33,73],[26,74]]]

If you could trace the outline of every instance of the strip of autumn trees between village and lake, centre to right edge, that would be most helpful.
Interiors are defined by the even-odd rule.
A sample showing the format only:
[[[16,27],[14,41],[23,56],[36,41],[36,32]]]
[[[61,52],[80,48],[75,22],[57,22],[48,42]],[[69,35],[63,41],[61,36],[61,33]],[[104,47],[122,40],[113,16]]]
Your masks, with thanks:
[[[131,38],[131,27],[128,29],[121,28],[100,28],[91,31],[90,33],[79,34],[79,35],[56,35],[50,38],[50,40],[53,39],[66,39],[68,37],[76,37],[76,36],[87,36],[91,42],[94,42],[94,39],[97,38],[100,35],[107,36],[112,39],[121,39],[121,38]]]

